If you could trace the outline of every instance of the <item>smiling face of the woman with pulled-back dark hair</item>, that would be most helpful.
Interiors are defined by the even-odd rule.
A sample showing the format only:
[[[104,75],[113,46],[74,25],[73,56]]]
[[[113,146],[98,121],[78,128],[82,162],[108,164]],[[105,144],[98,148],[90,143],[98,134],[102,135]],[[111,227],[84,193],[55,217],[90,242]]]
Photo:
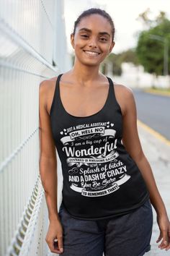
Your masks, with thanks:
[[[71,34],[71,44],[76,61],[87,66],[99,66],[115,45],[109,21],[99,14],[82,18],[75,35]]]

